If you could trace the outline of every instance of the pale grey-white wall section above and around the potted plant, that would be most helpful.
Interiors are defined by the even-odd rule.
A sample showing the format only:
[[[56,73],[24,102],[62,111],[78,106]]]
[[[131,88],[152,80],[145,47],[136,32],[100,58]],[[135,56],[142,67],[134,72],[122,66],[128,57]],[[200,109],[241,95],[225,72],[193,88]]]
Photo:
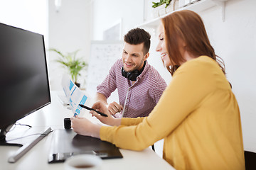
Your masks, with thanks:
[[[56,48],[67,54],[80,50],[77,57],[85,62],[90,56],[91,40],[91,2],[90,0],[62,0],[59,11],[56,11],[53,0],[48,0],[49,8],[49,47]],[[57,53],[48,52],[50,56],[50,89],[62,90],[63,72],[68,72],[62,65],[55,62]],[[84,86],[85,71],[78,82]]]

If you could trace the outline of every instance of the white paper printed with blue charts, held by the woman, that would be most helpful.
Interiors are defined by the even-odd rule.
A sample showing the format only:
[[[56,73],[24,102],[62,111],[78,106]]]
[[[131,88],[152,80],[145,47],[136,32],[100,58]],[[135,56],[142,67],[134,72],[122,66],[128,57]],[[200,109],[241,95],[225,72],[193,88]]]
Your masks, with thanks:
[[[70,108],[75,115],[80,115],[82,111],[81,106],[79,104],[85,105],[85,101],[87,100],[87,96],[75,85],[75,83],[68,77],[67,74],[63,75],[61,85],[63,86],[63,91],[65,96],[68,98],[70,103]]]

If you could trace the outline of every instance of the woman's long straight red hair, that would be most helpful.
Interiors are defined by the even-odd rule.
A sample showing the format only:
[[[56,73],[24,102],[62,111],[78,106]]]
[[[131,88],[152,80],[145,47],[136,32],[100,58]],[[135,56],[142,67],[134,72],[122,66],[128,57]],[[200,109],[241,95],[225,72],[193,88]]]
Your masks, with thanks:
[[[185,62],[179,51],[180,40],[185,42],[186,50],[191,55],[196,57],[207,55],[218,62],[225,74],[225,64],[220,57],[215,55],[206,28],[197,13],[189,10],[176,11],[161,18],[161,21],[164,26],[166,49],[172,64],[171,67],[167,67],[171,75],[178,69],[180,63]],[[216,57],[220,60],[217,60]]]

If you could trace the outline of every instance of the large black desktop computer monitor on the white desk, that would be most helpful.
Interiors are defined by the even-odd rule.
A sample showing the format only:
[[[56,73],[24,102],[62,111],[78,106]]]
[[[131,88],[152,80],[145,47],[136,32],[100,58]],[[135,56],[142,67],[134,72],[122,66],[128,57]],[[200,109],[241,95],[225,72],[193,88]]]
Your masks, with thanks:
[[[11,145],[11,126],[50,103],[43,35],[0,23],[0,98],[0,145]]]

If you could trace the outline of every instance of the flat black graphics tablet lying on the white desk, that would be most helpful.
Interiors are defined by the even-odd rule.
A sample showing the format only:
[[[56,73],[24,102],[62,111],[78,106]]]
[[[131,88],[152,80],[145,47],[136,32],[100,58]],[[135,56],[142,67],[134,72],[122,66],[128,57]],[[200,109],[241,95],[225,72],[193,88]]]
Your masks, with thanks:
[[[102,159],[122,158],[118,147],[110,142],[78,135],[73,130],[54,130],[48,163],[65,162],[77,154],[95,154]]]

